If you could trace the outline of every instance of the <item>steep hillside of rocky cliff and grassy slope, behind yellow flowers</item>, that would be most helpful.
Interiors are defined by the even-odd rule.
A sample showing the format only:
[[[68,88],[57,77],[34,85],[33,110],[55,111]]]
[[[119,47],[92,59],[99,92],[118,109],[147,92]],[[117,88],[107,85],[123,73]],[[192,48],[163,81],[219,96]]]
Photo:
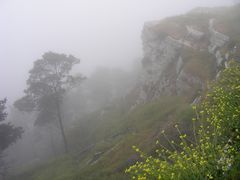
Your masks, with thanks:
[[[152,154],[161,131],[171,138],[180,124],[191,135],[192,103],[231,59],[240,61],[240,6],[197,8],[148,22],[142,32],[143,72],[136,88],[110,106],[75,122],[67,136],[71,153],[22,170],[12,179],[128,179],[138,160],[132,146]]]

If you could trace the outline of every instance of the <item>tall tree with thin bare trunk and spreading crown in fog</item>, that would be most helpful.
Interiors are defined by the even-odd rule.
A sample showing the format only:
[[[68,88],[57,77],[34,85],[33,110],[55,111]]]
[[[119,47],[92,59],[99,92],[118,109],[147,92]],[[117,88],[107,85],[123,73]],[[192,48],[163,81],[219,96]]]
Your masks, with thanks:
[[[34,62],[29,71],[25,96],[17,100],[14,105],[21,111],[37,111],[35,125],[45,125],[58,122],[65,152],[68,143],[64,131],[61,104],[66,91],[81,82],[80,75],[70,75],[72,67],[80,62],[72,55],[47,52],[42,59]]]

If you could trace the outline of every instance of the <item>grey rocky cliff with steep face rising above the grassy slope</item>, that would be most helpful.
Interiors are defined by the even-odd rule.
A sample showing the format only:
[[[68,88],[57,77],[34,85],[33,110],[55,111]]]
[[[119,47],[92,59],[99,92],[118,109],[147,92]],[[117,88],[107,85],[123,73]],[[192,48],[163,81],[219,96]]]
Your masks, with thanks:
[[[185,15],[145,23],[137,102],[163,95],[186,95],[194,100],[208,80],[216,78],[231,58],[236,59],[239,10],[239,6],[197,8]]]

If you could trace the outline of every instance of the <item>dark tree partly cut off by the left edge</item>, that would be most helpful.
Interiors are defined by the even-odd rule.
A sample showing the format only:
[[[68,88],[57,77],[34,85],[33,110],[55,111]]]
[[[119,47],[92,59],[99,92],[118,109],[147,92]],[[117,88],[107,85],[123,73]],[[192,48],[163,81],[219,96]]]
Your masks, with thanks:
[[[6,99],[0,100],[0,175],[5,176],[4,163],[2,162],[2,153],[10,145],[15,143],[17,139],[21,138],[23,129],[21,127],[15,127],[11,123],[2,123],[6,117]]]

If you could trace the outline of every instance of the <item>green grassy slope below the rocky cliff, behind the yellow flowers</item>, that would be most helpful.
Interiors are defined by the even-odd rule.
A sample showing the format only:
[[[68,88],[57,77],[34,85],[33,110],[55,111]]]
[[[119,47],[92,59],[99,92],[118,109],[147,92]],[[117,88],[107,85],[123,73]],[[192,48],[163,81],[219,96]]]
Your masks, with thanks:
[[[133,145],[151,153],[162,129],[170,134],[173,124],[189,124],[192,114],[190,106],[179,97],[139,105],[130,112],[120,105],[112,106],[105,114],[96,112],[79,121],[68,133],[72,145],[69,155],[11,179],[126,179],[125,168],[138,159]],[[85,134],[81,129],[86,130]],[[86,150],[82,148],[84,143],[89,147]]]

